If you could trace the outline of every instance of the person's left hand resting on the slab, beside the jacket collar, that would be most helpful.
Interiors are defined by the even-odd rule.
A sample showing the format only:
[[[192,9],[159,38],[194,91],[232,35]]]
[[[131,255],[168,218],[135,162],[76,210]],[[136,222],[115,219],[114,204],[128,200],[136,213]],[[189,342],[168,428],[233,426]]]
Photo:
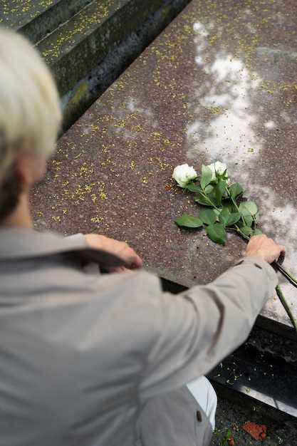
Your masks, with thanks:
[[[85,239],[88,245],[93,249],[102,249],[108,251],[110,254],[120,257],[125,261],[129,269],[139,269],[142,267],[142,259],[136,254],[134,249],[130,248],[125,242],[118,242],[118,240],[109,239],[104,235],[86,234]],[[110,272],[125,272],[129,271],[125,266],[108,269]]]

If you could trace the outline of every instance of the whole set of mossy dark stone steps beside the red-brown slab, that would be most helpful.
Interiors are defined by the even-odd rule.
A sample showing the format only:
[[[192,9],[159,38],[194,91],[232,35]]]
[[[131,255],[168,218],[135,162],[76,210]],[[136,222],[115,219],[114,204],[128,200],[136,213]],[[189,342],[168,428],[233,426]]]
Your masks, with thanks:
[[[6,0],[0,23],[37,44],[62,96],[64,130],[189,0]]]

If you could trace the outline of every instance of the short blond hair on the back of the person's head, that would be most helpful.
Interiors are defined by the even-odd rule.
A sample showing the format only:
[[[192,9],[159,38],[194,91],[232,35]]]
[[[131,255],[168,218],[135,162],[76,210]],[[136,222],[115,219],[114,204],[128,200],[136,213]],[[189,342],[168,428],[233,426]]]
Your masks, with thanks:
[[[38,52],[0,27],[0,219],[15,206],[21,154],[48,158],[61,126],[56,84]]]

